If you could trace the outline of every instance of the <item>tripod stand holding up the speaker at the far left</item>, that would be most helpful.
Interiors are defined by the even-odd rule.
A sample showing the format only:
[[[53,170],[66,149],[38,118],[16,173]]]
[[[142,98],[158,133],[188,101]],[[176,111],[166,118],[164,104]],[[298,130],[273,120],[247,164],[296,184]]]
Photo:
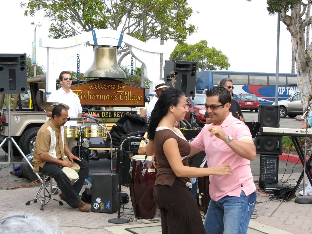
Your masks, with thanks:
[[[7,94],[7,110],[8,110],[8,115],[9,115],[9,121],[8,121],[8,135],[7,137],[1,142],[0,144],[0,148],[2,147],[2,145],[7,141],[7,154],[8,154],[8,161],[7,162],[0,162],[1,164],[11,164],[13,165],[13,174],[15,175],[15,165],[14,163],[17,163],[16,161],[14,161],[14,154],[13,154],[13,148],[12,148],[12,143],[15,145],[15,147],[17,148],[18,152],[23,156],[23,158],[25,158],[26,162],[18,162],[18,163],[28,163],[28,165],[30,166],[30,168],[32,168],[32,170],[34,169],[34,167],[32,166],[32,163],[28,160],[28,158],[26,157],[26,155],[23,153],[22,149],[19,148],[18,144],[15,142],[15,140],[11,137],[11,105],[10,105],[10,96]],[[11,156],[13,161],[11,161]],[[36,176],[38,179],[41,180],[41,177],[36,173]],[[43,181],[41,180],[41,182],[43,183]]]

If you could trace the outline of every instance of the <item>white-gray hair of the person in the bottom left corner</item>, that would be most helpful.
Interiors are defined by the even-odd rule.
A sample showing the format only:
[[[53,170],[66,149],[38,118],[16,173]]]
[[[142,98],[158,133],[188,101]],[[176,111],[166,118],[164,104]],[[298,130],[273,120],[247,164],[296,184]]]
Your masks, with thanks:
[[[14,212],[0,219],[1,234],[64,234],[56,217],[45,219],[32,213]]]

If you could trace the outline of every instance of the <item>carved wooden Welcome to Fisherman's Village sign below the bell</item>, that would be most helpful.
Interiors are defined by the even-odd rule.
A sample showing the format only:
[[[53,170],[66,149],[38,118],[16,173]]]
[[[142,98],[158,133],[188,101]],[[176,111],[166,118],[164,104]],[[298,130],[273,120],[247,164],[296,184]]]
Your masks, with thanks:
[[[72,85],[81,105],[144,106],[144,89],[114,79],[89,80]]]

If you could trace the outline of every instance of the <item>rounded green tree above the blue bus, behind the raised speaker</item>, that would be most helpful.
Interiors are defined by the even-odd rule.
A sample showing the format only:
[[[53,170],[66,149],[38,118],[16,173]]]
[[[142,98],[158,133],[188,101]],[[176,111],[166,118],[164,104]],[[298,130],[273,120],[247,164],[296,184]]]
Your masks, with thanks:
[[[194,45],[183,42],[177,45],[170,54],[171,60],[198,62],[198,69],[205,70],[227,70],[230,67],[228,57],[215,47],[209,48],[207,41],[199,41]]]

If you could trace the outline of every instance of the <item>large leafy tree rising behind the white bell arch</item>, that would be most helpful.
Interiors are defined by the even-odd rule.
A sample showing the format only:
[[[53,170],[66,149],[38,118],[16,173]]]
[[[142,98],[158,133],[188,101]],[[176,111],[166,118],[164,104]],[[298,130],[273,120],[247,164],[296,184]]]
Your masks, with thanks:
[[[113,29],[126,32],[141,41],[151,38],[173,39],[180,43],[196,31],[187,20],[193,13],[187,0],[29,0],[21,3],[24,15],[43,11],[50,19],[50,37],[72,37],[93,29]],[[128,55],[124,47],[119,58]]]

